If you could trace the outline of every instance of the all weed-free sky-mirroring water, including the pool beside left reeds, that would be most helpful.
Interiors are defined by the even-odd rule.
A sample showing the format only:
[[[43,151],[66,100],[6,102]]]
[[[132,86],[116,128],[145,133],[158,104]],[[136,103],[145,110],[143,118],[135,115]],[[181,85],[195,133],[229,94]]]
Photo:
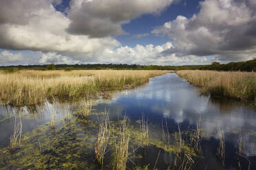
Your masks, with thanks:
[[[219,139],[217,127],[224,132],[226,146],[228,146],[226,157],[231,162],[229,169],[235,169],[236,166],[233,156],[236,153],[239,134],[242,134],[243,155],[255,156],[255,110],[236,100],[212,98],[199,94],[198,88],[180,79],[175,73],[167,73],[152,78],[145,86],[117,92],[112,99],[99,99],[95,101],[92,108],[93,112],[107,110],[110,113],[110,121],[116,121],[124,114],[131,121],[136,121],[144,114],[148,117],[151,127],[157,132],[161,131],[163,120],[167,120],[169,132],[176,132],[178,123],[182,130],[193,129],[201,118],[202,147],[204,148],[204,161],[208,162],[207,165],[217,166],[215,158],[216,143]],[[49,123],[52,113],[56,115],[55,119],[58,121],[66,116],[67,111],[78,110],[79,102],[49,101],[41,106],[0,107],[0,147],[6,147],[9,144],[15,115],[23,115],[23,133],[30,132],[39,125]],[[98,117],[92,116],[90,119],[97,121]],[[203,165],[204,163],[198,169],[204,169]],[[214,169],[214,166],[209,169]]]

